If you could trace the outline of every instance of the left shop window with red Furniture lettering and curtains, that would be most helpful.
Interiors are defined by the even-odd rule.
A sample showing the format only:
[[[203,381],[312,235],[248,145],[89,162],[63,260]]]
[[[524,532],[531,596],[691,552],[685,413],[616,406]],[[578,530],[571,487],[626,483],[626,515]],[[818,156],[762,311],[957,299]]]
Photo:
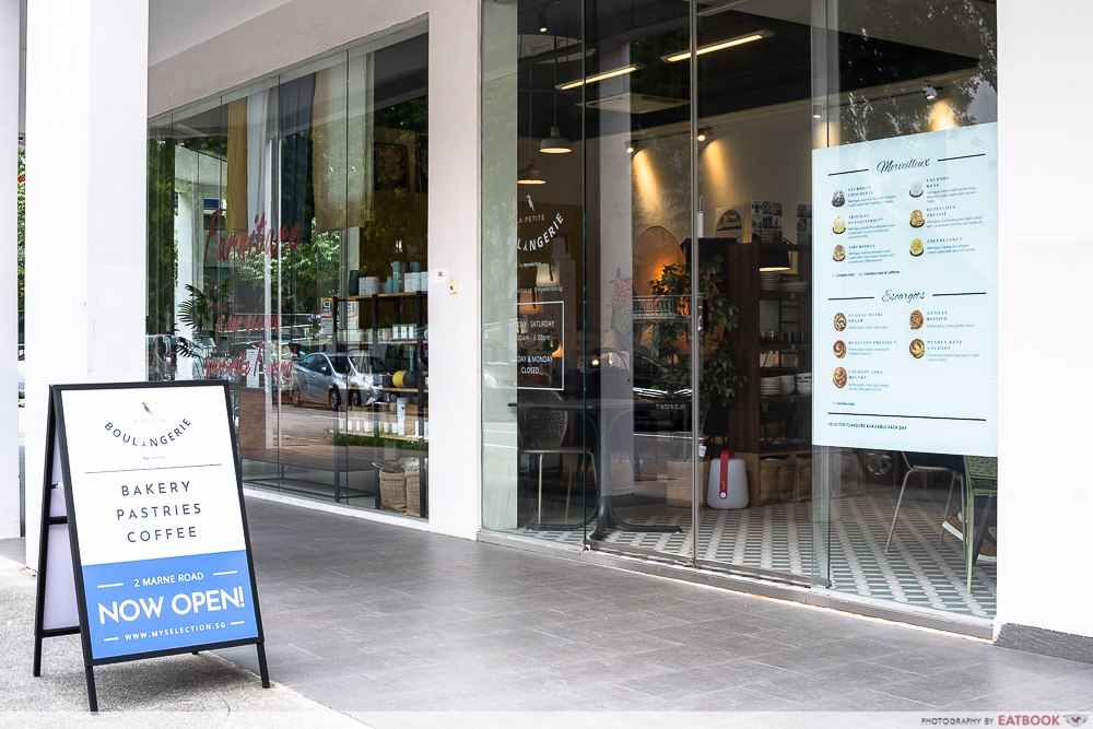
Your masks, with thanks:
[[[149,378],[231,384],[248,483],[427,516],[427,37],[150,125]]]

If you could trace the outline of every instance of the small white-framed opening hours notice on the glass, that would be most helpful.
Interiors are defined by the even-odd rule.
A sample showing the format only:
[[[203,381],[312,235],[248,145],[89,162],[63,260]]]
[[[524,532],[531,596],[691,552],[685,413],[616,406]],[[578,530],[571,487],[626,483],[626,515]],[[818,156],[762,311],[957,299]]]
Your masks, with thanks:
[[[565,302],[521,302],[516,310],[516,386],[564,390]]]

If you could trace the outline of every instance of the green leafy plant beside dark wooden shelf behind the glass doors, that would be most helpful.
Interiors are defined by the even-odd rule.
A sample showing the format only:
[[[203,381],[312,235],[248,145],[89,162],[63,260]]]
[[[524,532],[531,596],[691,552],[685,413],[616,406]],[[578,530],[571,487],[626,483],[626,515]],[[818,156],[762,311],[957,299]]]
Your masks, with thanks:
[[[721,257],[713,256],[698,268],[698,286],[705,307],[706,324],[702,332],[702,383],[698,407],[701,423],[712,408],[727,408],[744,384],[729,353],[729,332],[737,328],[740,310],[729,304],[717,285]],[[666,266],[659,279],[649,282],[657,301],[657,310],[666,313],[653,328],[653,355],[668,365],[660,384],[663,389],[690,389],[691,383],[691,267],[686,263]]]

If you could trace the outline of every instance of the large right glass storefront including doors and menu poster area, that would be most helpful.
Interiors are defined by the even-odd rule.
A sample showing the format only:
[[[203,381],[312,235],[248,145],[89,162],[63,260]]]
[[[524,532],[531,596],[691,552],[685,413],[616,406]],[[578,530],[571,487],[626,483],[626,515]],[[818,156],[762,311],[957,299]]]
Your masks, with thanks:
[[[928,4],[483,3],[484,528],[992,614],[995,10]]]

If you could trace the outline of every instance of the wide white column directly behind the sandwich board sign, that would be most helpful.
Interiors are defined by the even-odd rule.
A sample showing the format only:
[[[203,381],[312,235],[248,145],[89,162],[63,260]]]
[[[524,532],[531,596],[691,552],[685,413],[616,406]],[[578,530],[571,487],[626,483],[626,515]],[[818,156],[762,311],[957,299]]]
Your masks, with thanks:
[[[49,385],[145,378],[148,2],[35,0],[26,48],[34,171],[26,196],[26,558],[34,565]]]

